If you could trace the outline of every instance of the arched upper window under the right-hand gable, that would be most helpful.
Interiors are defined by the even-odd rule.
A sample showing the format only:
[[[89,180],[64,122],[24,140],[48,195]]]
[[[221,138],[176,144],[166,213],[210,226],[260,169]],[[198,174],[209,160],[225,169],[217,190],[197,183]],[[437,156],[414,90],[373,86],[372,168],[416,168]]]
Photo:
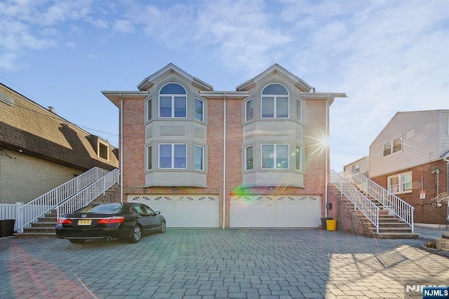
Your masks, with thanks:
[[[262,91],[262,118],[288,118],[288,91],[281,84],[270,84]]]

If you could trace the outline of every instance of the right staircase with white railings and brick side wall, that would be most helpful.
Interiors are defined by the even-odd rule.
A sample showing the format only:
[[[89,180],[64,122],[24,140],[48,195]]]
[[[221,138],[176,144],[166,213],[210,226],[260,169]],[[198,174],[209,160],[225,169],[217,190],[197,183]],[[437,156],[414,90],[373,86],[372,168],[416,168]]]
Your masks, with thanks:
[[[360,184],[358,185],[353,180],[344,180],[340,175],[338,177],[335,175],[336,173],[332,173],[334,190],[341,193],[338,196],[338,218],[341,230],[376,238],[411,239],[418,237],[419,234],[415,234],[413,231],[413,207],[403,203],[397,197],[395,201],[376,198],[379,197],[379,194],[387,194],[387,197],[394,196],[387,190],[370,192],[375,194],[375,197],[366,191],[366,189],[371,191],[373,188],[362,188],[361,185],[366,184],[361,184],[360,180],[356,180]],[[363,180],[366,182],[369,179],[365,177]],[[375,184],[375,182],[370,181],[370,184]],[[376,188],[379,187],[376,186]],[[370,209],[368,210],[367,207]],[[411,217],[404,217],[410,213]]]

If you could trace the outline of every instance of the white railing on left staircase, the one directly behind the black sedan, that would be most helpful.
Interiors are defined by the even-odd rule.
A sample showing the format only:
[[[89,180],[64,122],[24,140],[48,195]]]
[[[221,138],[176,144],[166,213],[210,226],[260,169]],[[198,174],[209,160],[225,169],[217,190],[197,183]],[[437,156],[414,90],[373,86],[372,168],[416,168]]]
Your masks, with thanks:
[[[55,207],[58,214],[57,217],[60,218],[64,214],[72,213],[73,211],[86,206],[101,194],[105,194],[105,191],[112,187],[112,185],[118,183],[119,169],[114,169],[114,171],[107,173],[107,175],[100,178],[100,180],[97,180],[93,184],[81,190],[81,192],[75,194],[73,197],[70,197],[66,201],[58,204],[58,206]]]

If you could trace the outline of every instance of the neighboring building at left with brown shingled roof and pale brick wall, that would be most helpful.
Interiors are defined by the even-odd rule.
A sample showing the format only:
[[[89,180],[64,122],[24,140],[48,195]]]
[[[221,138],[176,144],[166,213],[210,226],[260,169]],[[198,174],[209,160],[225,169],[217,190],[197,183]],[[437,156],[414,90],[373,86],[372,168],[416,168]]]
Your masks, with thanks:
[[[119,166],[118,151],[0,84],[0,204],[29,202],[94,166]]]

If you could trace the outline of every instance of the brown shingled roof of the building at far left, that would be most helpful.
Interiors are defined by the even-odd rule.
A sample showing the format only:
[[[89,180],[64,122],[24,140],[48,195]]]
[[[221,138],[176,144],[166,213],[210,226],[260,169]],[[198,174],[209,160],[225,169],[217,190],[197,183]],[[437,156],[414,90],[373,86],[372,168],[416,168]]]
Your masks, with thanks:
[[[86,171],[94,166],[112,170],[119,166],[117,152],[109,145],[109,161],[98,157],[98,136],[92,135],[0,84],[0,147]],[[101,138],[100,138],[101,140]],[[108,144],[107,140],[102,140]]]

